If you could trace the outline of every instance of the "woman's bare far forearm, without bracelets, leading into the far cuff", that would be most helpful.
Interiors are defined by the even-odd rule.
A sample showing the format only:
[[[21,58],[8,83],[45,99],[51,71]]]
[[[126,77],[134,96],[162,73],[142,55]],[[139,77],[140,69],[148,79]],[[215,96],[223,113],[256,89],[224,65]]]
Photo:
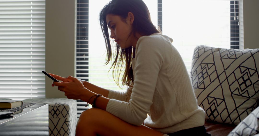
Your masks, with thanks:
[[[109,94],[109,90],[96,86],[90,82],[87,82],[85,80],[81,80],[81,82],[83,82],[83,85],[85,88],[89,89],[92,92],[95,92],[96,94],[102,94],[104,97],[108,97]]]

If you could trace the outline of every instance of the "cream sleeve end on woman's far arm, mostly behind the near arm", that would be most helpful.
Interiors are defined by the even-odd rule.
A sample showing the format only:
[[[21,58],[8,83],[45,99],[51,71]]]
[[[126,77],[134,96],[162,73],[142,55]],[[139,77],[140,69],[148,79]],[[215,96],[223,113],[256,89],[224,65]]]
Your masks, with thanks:
[[[131,93],[132,93],[132,89],[130,88],[127,88],[127,90],[124,92],[109,90],[109,94],[107,98],[129,102]]]

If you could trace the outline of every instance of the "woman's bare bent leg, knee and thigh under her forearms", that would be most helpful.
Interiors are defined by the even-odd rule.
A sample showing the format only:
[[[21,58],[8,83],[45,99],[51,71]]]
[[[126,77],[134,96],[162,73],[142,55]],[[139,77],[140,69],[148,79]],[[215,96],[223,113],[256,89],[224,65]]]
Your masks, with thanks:
[[[88,109],[84,111],[77,122],[76,136],[161,136],[161,132],[155,131],[145,125],[135,126],[102,109]]]

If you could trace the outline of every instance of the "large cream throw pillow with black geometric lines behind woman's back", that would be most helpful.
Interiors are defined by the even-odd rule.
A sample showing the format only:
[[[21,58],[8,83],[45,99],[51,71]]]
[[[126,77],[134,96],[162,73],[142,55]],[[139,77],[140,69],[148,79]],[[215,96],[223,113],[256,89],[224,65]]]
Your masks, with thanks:
[[[259,98],[259,49],[194,49],[190,78],[206,120],[238,125]]]

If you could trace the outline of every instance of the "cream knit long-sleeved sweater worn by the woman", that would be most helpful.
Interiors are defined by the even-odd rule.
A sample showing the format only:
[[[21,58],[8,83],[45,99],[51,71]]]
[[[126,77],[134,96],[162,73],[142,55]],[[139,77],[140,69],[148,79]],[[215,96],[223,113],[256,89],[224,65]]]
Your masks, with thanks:
[[[204,125],[183,60],[162,34],[142,36],[132,59],[134,86],[126,92],[109,90],[106,111],[162,133]],[[148,114],[148,115],[147,115]]]

